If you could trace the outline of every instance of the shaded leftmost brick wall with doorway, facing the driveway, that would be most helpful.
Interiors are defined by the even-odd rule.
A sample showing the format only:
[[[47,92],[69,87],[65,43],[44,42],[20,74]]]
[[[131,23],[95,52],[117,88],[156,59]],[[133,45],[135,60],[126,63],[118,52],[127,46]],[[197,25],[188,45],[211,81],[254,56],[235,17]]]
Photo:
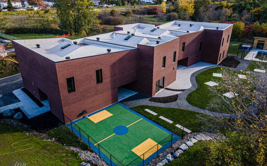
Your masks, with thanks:
[[[38,88],[46,93],[51,111],[62,120],[62,104],[56,64],[13,41],[25,88],[41,100]],[[34,82],[34,85],[32,84]]]

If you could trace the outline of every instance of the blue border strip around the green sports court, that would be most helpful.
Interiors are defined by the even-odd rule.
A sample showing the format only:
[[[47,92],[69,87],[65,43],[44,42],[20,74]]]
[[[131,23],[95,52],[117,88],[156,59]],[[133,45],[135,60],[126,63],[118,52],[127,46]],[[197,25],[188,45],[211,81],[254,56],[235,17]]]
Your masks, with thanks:
[[[144,120],[150,122],[151,124],[153,124],[153,125],[159,127],[160,129],[166,131],[167,133],[172,134],[171,131],[169,131],[169,130],[167,130],[166,128],[160,126],[159,124],[153,122],[152,120],[148,119],[147,117],[145,117],[145,116],[143,116],[143,115],[141,115],[141,114],[135,112],[134,110],[132,110],[132,109],[126,107],[125,105],[121,104],[120,102],[116,102],[116,103],[114,103],[114,104],[111,104],[111,105],[109,105],[109,106],[107,106],[107,107],[105,107],[105,108],[102,108],[102,109],[97,110],[97,111],[95,111],[95,112],[93,112],[93,113],[91,113],[91,114],[88,114],[87,116],[92,116],[93,114],[99,113],[99,112],[101,112],[101,111],[103,111],[103,110],[105,110],[105,109],[107,109],[107,108],[110,108],[110,107],[112,107],[112,106],[114,106],[114,105],[117,105],[117,104],[120,105],[121,107],[123,107],[123,108],[125,108],[125,109],[131,111],[132,113],[136,114],[137,116],[143,118]],[[74,123],[77,123],[77,122],[79,122],[79,121],[82,120],[82,119],[84,119],[84,118],[81,117],[81,118],[79,118],[79,119],[77,119],[77,120],[74,120],[73,122],[74,122]],[[70,127],[71,127],[70,122],[69,122],[68,124],[66,124],[66,126],[68,126],[68,127],[70,128]],[[77,125],[77,126],[78,126],[78,125]],[[72,127],[72,128],[73,128],[73,132],[79,137],[80,132],[79,132],[77,129],[75,129],[75,127]],[[71,128],[70,128],[70,129],[71,129]],[[176,134],[173,134],[173,136],[174,136],[174,138],[173,138],[171,141],[167,142],[164,146],[162,146],[162,147],[158,150],[158,155],[159,155],[160,153],[162,153],[164,150],[166,150],[168,147],[170,147],[171,144],[175,143],[178,139],[181,138],[180,136],[178,136],[178,135],[176,135]],[[99,150],[95,145],[93,145],[93,143],[91,143],[90,141],[88,141],[88,139],[85,138],[83,134],[81,134],[81,137],[82,137],[81,139],[82,139],[83,141],[84,141],[84,140],[87,140],[87,141],[84,141],[84,142],[85,142],[86,144],[88,144],[88,145],[90,146],[90,148],[92,148],[92,149],[95,151],[96,154],[99,155],[99,153],[100,153],[100,157],[101,157],[103,160],[105,160],[109,165],[116,165],[113,161],[112,161],[112,163],[111,163],[109,156],[106,156],[101,150]],[[104,156],[103,156],[103,155],[104,155]],[[142,165],[146,165],[146,164],[148,164],[148,163],[149,163],[151,160],[153,160],[156,156],[157,156],[157,152],[155,152],[154,154],[150,155],[147,159],[144,160],[144,163],[143,163],[143,161],[142,161],[140,164],[138,164],[138,166],[142,166]],[[138,159],[137,159],[137,160],[138,160]]]

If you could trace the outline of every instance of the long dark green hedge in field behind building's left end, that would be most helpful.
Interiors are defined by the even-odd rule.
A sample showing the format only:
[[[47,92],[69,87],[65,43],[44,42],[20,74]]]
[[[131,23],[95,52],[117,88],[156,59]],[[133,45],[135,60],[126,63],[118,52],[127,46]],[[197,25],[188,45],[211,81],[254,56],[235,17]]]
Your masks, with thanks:
[[[62,29],[42,28],[42,27],[32,27],[32,28],[12,27],[12,28],[7,28],[5,33],[6,34],[47,33],[47,34],[63,35],[63,34],[68,34],[69,32],[67,30],[62,30]]]

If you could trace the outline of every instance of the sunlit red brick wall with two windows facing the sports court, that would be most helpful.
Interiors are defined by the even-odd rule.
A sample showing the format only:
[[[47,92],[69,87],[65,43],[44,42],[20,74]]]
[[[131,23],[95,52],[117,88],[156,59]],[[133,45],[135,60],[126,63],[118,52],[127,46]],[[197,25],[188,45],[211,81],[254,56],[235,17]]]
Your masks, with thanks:
[[[138,80],[138,49],[56,63],[64,114],[72,120],[118,101],[117,88]],[[96,84],[102,69],[103,83]],[[68,93],[66,78],[74,77],[75,92]]]

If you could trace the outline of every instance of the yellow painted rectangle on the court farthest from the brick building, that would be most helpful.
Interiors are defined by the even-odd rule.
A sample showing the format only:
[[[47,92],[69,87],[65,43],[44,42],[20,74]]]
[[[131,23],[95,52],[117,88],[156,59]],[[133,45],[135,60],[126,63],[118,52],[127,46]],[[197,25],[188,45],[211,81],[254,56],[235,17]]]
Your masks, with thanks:
[[[152,139],[148,138],[146,141],[142,142],[141,144],[139,144],[138,146],[133,148],[132,151],[136,155],[140,156],[142,159],[144,158],[144,160],[146,160],[149,156],[151,156],[153,153],[155,153],[158,149],[160,149],[162,147],[160,144],[159,144],[159,146],[157,146],[156,144],[158,144],[158,143],[156,143]],[[144,156],[141,156],[143,154],[144,154]]]

